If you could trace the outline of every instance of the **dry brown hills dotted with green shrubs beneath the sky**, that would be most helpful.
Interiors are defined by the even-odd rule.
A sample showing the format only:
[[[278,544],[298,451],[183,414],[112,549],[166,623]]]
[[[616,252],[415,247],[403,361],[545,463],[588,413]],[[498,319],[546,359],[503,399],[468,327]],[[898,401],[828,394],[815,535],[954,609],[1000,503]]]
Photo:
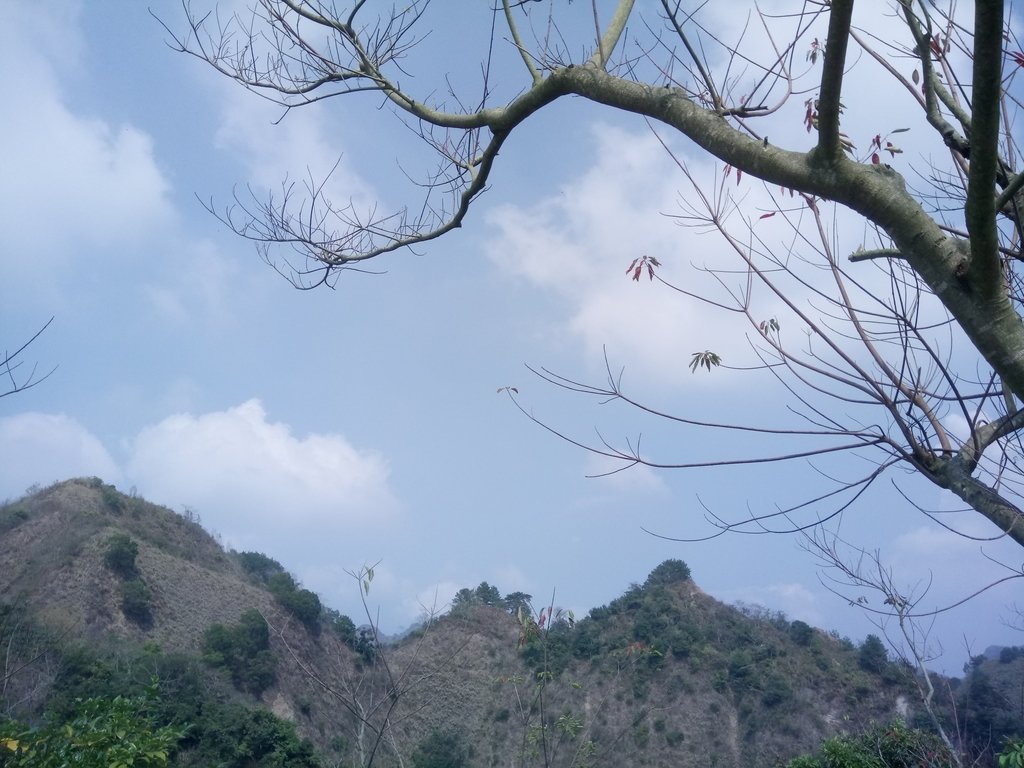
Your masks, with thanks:
[[[0,538],[3,669],[18,671],[0,715],[25,721],[157,674],[168,717],[268,710],[324,765],[443,753],[465,766],[738,768],[913,716],[909,673],[884,652],[724,605],[679,561],[580,621],[466,589],[450,614],[377,648],[272,558],[225,552],[196,520],[95,478],[0,508]],[[202,764],[188,761],[214,738],[194,729],[179,764]]]

